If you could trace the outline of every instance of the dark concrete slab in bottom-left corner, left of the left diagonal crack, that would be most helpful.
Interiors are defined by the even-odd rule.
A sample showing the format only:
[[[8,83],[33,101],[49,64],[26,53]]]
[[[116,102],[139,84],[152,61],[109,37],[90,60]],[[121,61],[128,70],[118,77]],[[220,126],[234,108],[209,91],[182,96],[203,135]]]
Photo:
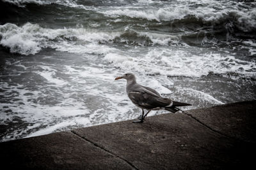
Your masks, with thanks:
[[[1,167],[7,169],[132,169],[72,132],[0,143]]]

